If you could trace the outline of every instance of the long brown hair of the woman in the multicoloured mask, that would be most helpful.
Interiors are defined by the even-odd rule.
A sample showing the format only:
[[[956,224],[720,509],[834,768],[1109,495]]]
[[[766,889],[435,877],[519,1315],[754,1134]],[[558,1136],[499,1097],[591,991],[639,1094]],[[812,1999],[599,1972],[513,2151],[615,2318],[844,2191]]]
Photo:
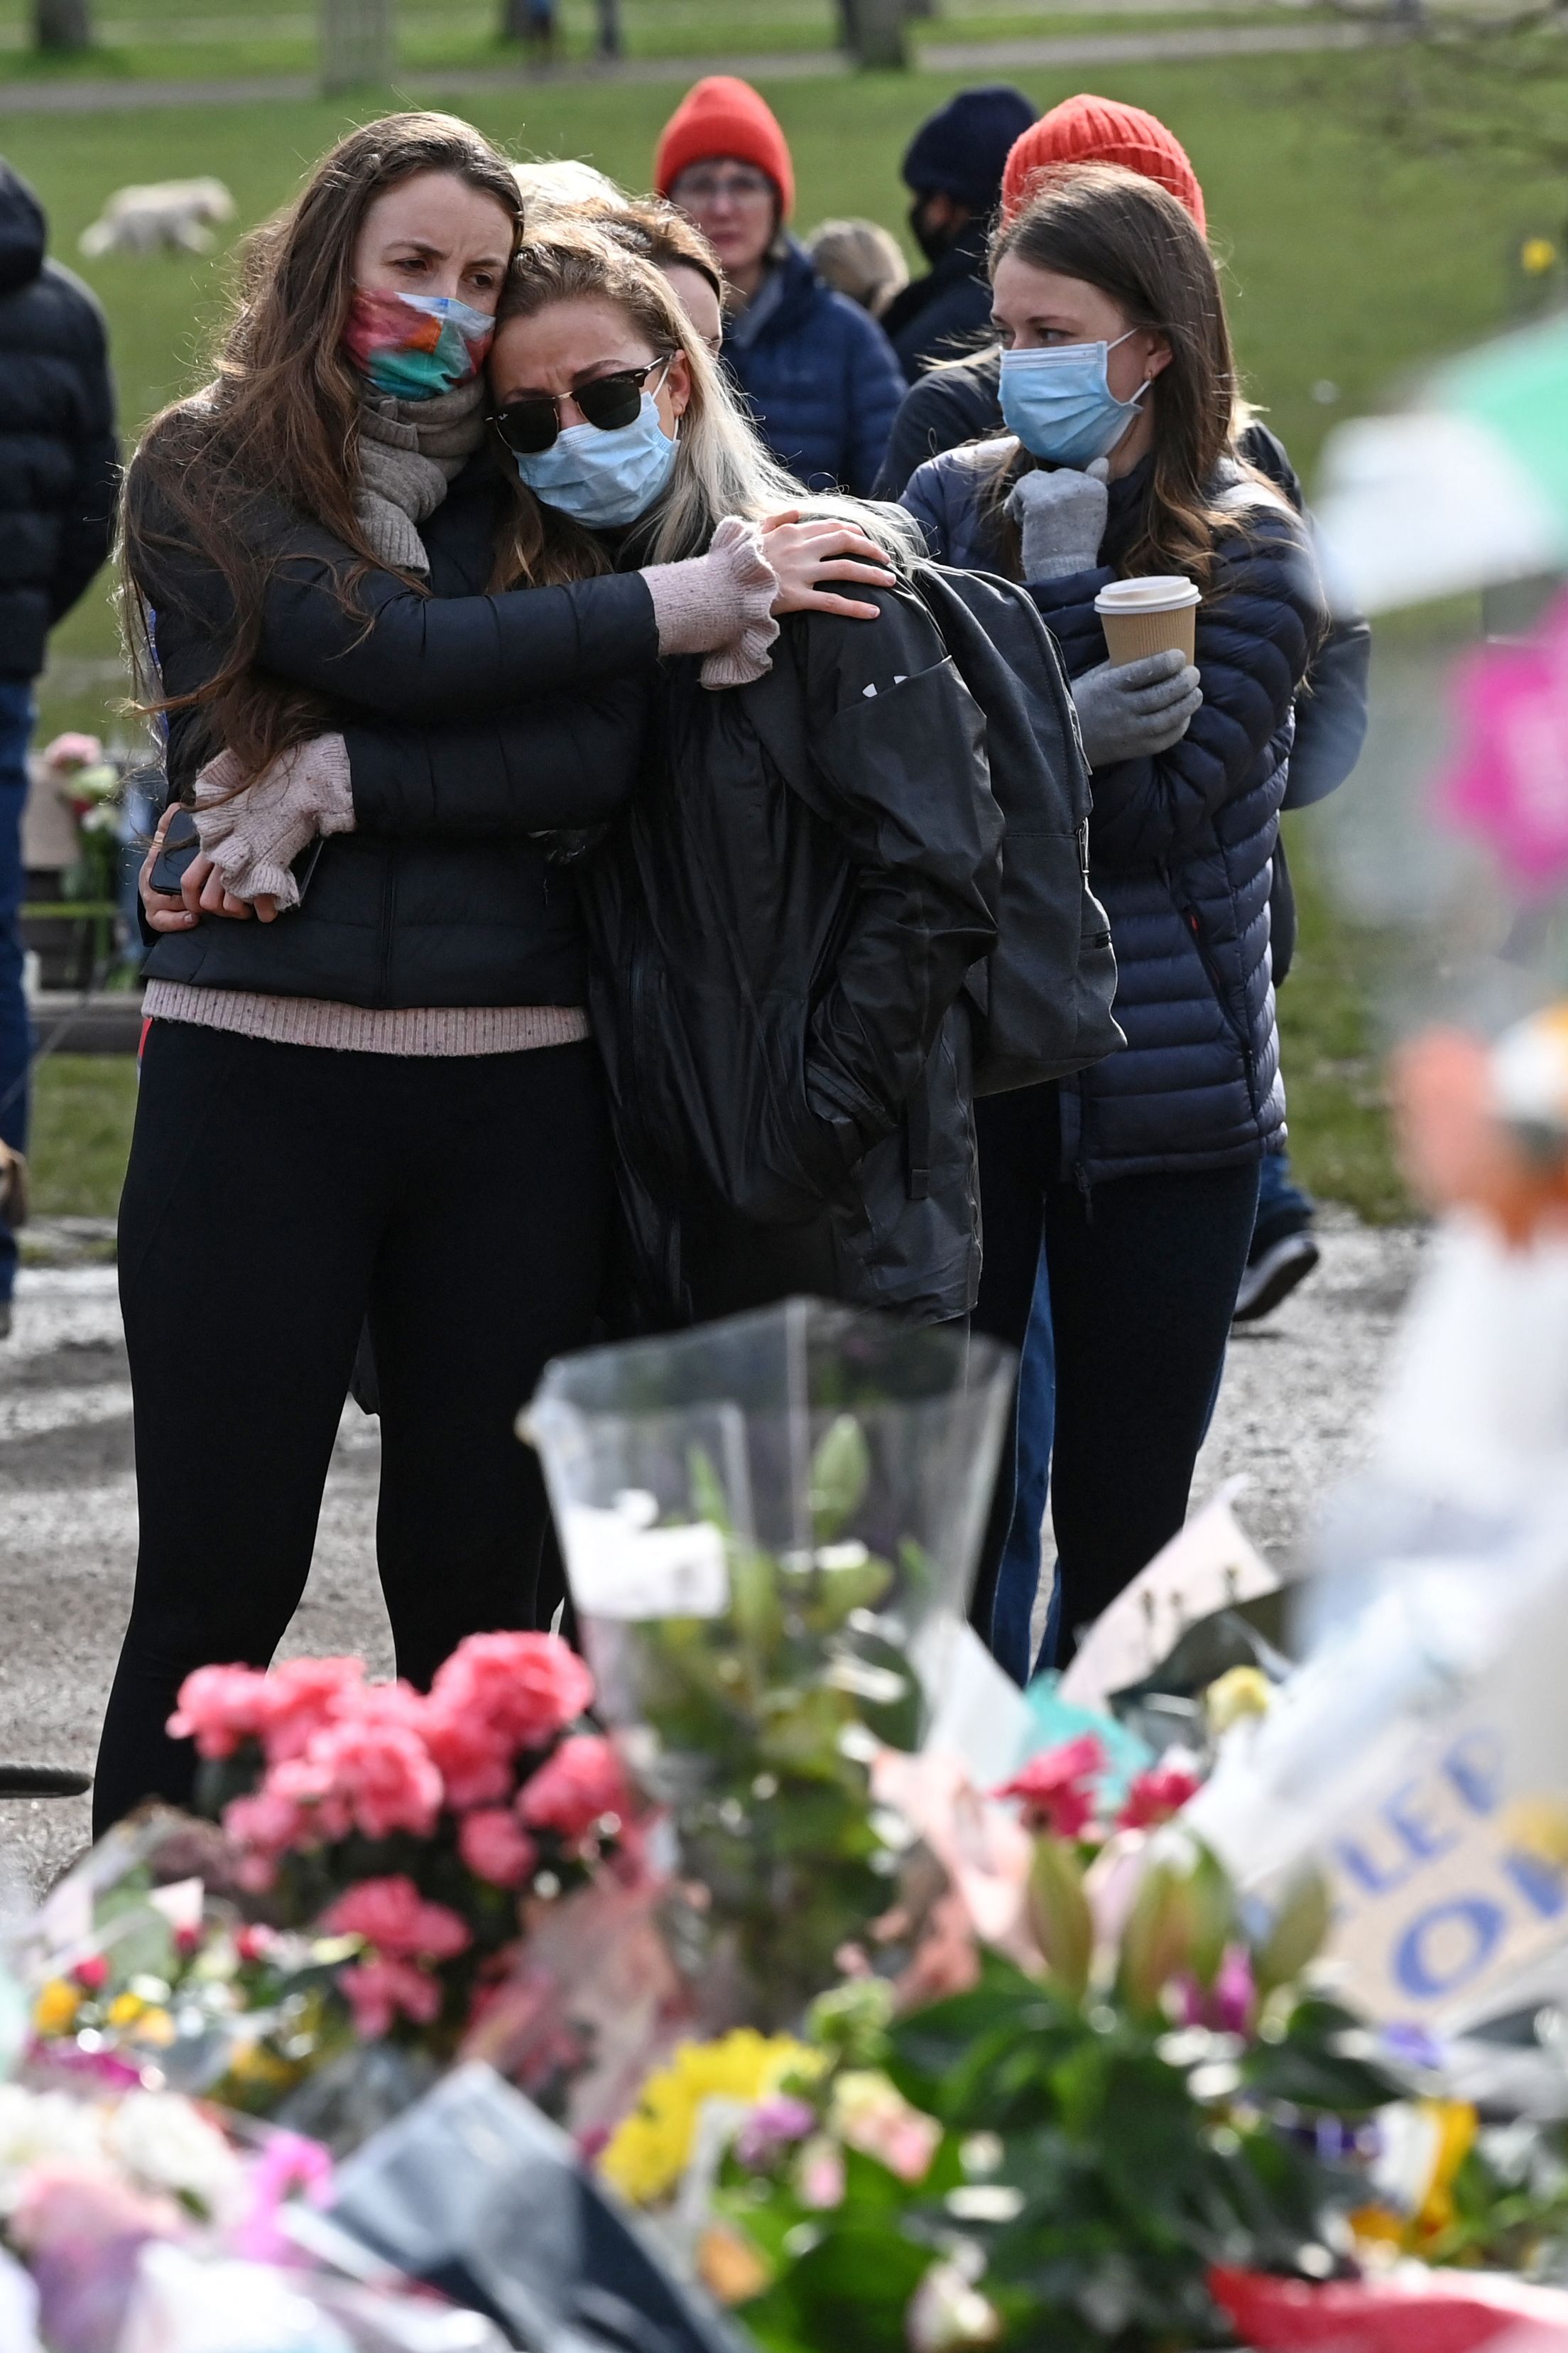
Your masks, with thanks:
[[[160,551],[188,558],[195,548],[219,572],[233,612],[216,678],[193,694],[148,696],[143,708],[197,708],[207,744],[237,753],[252,772],[324,722],[317,696],[254,666],[277,508],[308,515],[353,551],[339,584],[346,600],[378,562],[355,515],[362,386],[339,346],[364,214],[418,172],[447,172],[494,195],[512,221],[517,249],[517,181],[480,132],[435,113],[367,122],[339,139],[301,195],[249,238],[214,381],[153,419],[129,471],[125,614],[141,678],[155,678],[153,581],[169,602]]]

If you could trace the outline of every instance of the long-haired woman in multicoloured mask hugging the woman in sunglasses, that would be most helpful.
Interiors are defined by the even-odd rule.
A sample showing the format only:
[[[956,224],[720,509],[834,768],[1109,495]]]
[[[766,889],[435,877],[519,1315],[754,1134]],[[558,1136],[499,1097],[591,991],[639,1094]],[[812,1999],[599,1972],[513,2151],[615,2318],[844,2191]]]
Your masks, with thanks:
[[[548,1518],[512,1417],[590,1334],[614,1198],[557,835],[630,791],[656,654],[884,576],[853,529],[785,522],[764,558],[731,522],[689,562],[505,591],[482,362],[520,231],[477,132],[355,132],[132,468],[129,598],[202,856],[181,896],[143,885],[141,1551],[99,1826],[186,1795],[181,1678],[282,1638],[367,1313],[400,1671],[534,1621]]]

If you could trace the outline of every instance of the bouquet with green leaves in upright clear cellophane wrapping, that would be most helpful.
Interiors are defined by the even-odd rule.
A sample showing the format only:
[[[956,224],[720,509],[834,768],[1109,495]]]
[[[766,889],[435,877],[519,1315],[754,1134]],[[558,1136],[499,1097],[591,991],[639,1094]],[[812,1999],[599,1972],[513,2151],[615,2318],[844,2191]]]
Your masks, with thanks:
[[[889,1899],[867,1758],[919,1744],[1009,1381],[990,1341],[792,1299],[562,1360],[529,1409],[599,1713],[733,2017],[788,2024]]]

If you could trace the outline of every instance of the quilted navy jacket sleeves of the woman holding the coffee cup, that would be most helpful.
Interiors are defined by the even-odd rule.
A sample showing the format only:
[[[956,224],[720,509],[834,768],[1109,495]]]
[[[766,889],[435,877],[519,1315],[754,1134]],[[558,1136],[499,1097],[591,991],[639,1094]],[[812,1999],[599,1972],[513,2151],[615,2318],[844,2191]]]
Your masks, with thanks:
[[[1077,572],[1032,591],[1070,678],[1105,661],[1093,600],[1107,579],[1107,569]],[[1088,821],[1095,861],[1157,866],[1197,842],[1248,791],[1288,720],[1324,619],[1307,534],[1293,513],[1269,504],[1222,536],[1197,621],[1204,704],[1171,751],[1095,769]]]

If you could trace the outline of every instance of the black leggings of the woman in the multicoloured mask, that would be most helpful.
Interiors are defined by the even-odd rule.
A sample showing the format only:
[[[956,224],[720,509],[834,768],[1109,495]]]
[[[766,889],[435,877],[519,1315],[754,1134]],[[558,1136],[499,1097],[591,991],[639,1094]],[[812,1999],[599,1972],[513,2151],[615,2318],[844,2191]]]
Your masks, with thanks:
[[[360,1327],[397,1671],[536,1624],[548,1511],[512,1421],[590,1339],[611,1219],[590,1045],[404,1059],[155,1021],[120,1202],[141,1553],[94,1828],[183,1800],[193,1666],[266,1666],[310,1569]],[[543,1598],[541,1598],[543,1600]]]

